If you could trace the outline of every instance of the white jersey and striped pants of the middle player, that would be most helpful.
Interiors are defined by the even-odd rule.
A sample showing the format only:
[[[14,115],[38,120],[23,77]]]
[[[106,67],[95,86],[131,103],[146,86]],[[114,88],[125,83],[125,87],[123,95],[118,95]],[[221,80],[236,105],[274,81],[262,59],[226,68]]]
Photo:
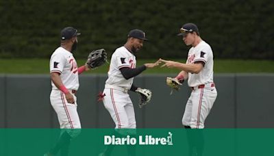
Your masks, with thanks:
[[[127,91],[132,87],[134,77],[125,79],[119,69],[136,68],[136,57],[125,47],[120,47],[112,54],[108,79],[105,81],[103,104],[110,112],[116,129],[135,129],[134,106]]]

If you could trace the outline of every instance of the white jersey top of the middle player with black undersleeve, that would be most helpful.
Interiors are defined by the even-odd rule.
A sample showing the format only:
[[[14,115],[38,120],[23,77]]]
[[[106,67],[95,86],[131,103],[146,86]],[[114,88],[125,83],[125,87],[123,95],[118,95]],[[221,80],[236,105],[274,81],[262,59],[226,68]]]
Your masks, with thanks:
[[[123,67],[136,68],[136,57],[125,47],[120,47],[112,54],[108,79],[105,81],[105,84],[129,90],[132,87],[134,77],[125,79],[120,71]]]

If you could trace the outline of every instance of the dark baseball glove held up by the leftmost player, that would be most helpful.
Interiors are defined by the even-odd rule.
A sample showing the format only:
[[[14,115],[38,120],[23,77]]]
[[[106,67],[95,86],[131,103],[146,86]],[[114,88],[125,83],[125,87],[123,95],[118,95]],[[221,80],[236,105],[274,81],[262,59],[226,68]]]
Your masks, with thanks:
[[[98,49],[89,53],[86,64],[88,64],[88,68],[95,69],[98,66],[105,64],[106,61],[107,53],[105,52],[105,49]]]

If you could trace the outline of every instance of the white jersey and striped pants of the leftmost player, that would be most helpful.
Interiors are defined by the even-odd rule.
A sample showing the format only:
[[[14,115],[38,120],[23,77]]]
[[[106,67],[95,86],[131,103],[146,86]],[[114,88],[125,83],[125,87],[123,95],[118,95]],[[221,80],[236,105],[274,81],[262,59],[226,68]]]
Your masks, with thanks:
[[[51,55],[50,72],[60,73],[64,86],[73,94],[75,103],[66,101],[64,92],[59,90],[51,81],[51,105],[58,115],[61,129],[81,129],[81,123],[77,113],[77,98],[75,92],[79,88],[77,62],[73,53],[59,47]],[[74,134],[77,135],[77,134]]]

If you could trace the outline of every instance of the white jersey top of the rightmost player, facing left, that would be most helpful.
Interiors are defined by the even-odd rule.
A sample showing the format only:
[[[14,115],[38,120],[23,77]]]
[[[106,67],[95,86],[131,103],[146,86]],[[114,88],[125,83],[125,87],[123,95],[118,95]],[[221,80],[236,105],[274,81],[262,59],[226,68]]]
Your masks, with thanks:
[[[213,82],[213,52],[210,45],[203,40],[196,47],[189,49],[186,64],[194,64],[198,61],[204,62],[205,65],[198,74],[188,73],[190,87]]]

